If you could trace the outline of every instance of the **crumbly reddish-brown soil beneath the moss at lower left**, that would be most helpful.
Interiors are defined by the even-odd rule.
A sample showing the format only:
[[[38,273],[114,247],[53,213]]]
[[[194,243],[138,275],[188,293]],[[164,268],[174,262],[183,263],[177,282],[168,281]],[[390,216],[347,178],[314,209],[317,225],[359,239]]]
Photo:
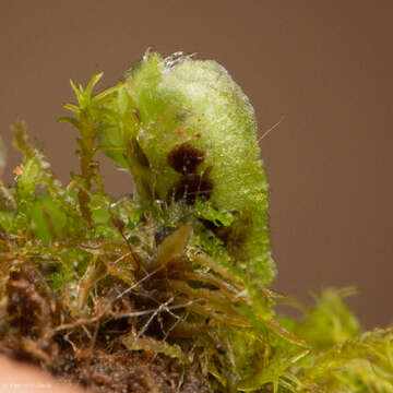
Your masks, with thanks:
[[[128,350],[121,337],[132,330],[130,323],[108,323],[105,312],[86,321],[72,320],[61,296],[48,287],[34,264],[1,262],[1,354],[93,392],[212,392],[198,359],[184,366],[162,354]]]

